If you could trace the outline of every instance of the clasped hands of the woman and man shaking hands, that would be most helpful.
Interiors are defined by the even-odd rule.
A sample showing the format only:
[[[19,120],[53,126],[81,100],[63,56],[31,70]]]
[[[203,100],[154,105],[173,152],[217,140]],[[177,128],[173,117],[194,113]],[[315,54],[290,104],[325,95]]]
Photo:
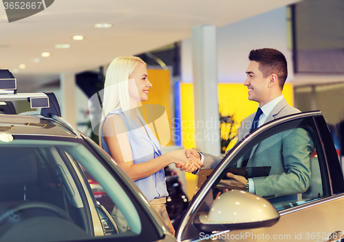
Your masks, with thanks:
[[[175,167],[180,171],[186,171],[192,173],[204,167],[201,162],[201,155],[195,149],[180,149],[174,152],[168,152],[166,155],[173,158]]]

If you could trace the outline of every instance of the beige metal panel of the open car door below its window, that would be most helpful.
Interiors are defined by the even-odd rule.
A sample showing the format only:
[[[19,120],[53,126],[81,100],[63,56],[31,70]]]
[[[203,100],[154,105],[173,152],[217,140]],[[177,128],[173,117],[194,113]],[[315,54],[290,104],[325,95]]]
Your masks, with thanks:
[[[344,227],[341,218],[344,216],[344,195],[320,199],[313,204],[293,208],[280,213],[279,222],[269,228],[233,231],[226,241],[328,241],[330,235]],[[239,236],[240,235],[240,236]],[[334,238],[334,239],[339,239]]]

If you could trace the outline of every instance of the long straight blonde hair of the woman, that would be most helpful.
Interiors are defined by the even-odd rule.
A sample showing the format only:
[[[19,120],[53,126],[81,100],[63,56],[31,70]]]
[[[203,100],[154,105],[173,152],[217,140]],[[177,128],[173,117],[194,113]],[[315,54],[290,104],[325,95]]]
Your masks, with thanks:
[[[118,57],[109,64],[105,75],[103,112],[100,119],[99,134],[102,134],[103,121],[109,112],[120,108],[123,111],[130,110],[129,86],[127,81],[129,80],[129,75],[133,73],[133,70],[139,63],[146,66],[146,62],[136,56]],[[127,118],[129,119],[129,117]],[[101,145],[101,138],[99,140],[100,147],[103,147]]]

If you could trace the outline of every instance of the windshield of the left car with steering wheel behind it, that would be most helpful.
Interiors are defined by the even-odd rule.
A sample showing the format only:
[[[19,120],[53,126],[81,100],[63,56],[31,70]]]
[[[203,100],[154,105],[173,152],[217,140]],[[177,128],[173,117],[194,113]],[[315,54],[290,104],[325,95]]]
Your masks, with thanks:
[[[14,137],[1,143],[0,152],[1,240],[72,241],[109,235],[124,241],[142,234],[148,241],[158,240],[147,213],[85,145]],[[100,193],[92,192],[81,166],[101,187]],[[104,193],[106,208],[94,197]],[[12,217],[9,210],[14,211]],[[21,233],[28,228],[29,234]],[[153,232],[146,236],[147,230]]]

